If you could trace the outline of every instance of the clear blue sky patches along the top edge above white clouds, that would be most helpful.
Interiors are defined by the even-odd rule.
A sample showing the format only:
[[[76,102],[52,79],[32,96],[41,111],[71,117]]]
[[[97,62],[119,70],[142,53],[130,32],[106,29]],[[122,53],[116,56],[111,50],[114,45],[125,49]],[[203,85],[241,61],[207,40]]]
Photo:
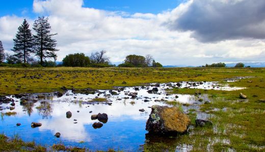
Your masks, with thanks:
[[[176,8],[182,1],[183,0],[84,0],[83,7],[107,11],[123,11],[130,14],[158,14]],[[2,1],[0,10],[0,16],[16,15],[36,17],[36,14],[33,13],[33,0]]]

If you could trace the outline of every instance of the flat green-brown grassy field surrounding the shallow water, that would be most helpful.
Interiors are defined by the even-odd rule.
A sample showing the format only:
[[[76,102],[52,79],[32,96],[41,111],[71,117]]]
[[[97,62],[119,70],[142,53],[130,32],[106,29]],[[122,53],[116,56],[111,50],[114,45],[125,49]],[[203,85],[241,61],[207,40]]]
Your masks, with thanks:
[[[141,86],[145,83],[179,81],[226,83],[224,79],[234,77],[252,78],[229,83],[230,86],[246,87],[244,90],[168,90],[179,94],[194,94],[195,91],[208,94],[210,103],[202,104],[200,111],[210,115],[209,120],[214,125],[213,127],[193,128],[189,134],[177,138],[157,137],[154,140],[150,137],[149,142],[143,146],[144,151],[174,151],[176,147],[188,151],[264,151],[265,103],[260,99],[265,99],[265,68],[1,67],[0,94],[62,91],[63,86],[67,89],[112,89],[114,86]],[[239,98],[241,92],[247,95],[246,100]],[[189,116],[194,125],[196,110],[191,109]],[[6,138],[0,136],[0,145],[6,142]],[[21,144],[26,145],[22,141]],[[11,147],[13,145],[9,148]]]

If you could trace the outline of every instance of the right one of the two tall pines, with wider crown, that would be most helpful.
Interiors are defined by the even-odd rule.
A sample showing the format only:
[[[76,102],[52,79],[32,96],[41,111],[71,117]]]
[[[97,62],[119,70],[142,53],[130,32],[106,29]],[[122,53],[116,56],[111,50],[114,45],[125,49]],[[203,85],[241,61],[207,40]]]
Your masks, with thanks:
[[[33,29],[36,31],[34,37],[34,47],[35,54],[40,58],[40,64],[43,65],[43,59],[54,58],[56,60],[56,40],[52,40],[51,36],[56,34],[51,34],[50,24],[48,23],[48,17],[39,17],[38,20],[34,22]]]

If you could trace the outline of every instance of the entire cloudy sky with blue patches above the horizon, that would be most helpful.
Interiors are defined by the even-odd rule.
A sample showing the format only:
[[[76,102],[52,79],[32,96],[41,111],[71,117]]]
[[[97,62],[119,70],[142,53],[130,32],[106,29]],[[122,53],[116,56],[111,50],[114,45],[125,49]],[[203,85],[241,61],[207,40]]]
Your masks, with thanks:
[[[151,54],[163,65],[265,62],[263,0],[3,1],[0,41],[7,53],[23,19],[32,29],[38,16],[58,33],[58,61],[106,50],[113,63],[129,54]]]

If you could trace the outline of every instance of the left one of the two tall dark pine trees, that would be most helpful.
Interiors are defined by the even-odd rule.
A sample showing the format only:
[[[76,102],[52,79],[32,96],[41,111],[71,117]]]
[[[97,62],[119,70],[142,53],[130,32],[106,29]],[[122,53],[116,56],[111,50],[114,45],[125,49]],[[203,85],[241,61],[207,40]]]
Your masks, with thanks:
[[[18,27],[16,39],[13,39],[14,48],[12,51],[15,52],[14,56],[18,59],[23,59],[24,63],[30,57],[30,53],[33,53],[33,37],[29,27],[29,23],[24,19],[23,23]]]

